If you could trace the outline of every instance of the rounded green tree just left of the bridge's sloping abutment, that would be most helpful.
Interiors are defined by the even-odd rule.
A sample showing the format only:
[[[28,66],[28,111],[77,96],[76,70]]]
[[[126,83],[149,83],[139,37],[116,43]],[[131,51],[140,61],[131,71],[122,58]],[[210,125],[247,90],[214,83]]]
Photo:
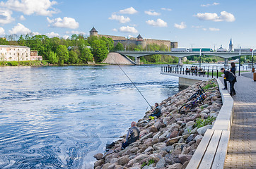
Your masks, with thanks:
[[[96,62],[103,61],[108,54],[106,42],[103,40],[94,40],[91,42],[92,54]]]

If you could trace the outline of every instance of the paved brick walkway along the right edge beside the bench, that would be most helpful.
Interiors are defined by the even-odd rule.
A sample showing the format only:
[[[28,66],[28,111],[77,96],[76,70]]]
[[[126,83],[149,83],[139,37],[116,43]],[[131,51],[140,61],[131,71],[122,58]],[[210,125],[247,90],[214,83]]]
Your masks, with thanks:
[[[250,77],[248,73],[241,74],[235,83],[233,123],[225,169],[256,168],[256,82]],[[223,78],[220,79],[223,82]]]

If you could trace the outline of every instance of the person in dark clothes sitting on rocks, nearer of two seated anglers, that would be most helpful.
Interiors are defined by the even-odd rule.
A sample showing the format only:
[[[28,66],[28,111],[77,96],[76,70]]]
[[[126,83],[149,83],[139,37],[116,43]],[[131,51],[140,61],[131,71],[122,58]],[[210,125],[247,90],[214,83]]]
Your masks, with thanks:
[[[131,128],[129,129],[127,136],[126,136],[126,142],[122,144],[121,149],[125,149],[129,144],[132,144],[133,142],[136,142],[137,139],[139,139],[139,129],[136,127],[136,122],[132,122]]]

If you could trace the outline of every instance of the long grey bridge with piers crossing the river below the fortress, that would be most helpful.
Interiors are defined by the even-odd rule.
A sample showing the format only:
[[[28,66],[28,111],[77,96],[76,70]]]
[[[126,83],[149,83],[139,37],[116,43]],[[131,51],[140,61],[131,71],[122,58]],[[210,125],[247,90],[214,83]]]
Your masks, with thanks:
[[[235,56],[253,56],[252,52],[173,52],[173,51],[116,51],[118,54],[122,56],[132,56],[135,58],[135,64],[139,65],[140,57],[142,56],[150,56],[156,54],[162,55],[170,55],[179,58],[178,65],[182,65],[182,58],[187,56],[202,56],[202,55],[211,55],[211,56],[219,56],[221,58],[225,58],[225,65],[228,65],[228,58],[232,58]]]

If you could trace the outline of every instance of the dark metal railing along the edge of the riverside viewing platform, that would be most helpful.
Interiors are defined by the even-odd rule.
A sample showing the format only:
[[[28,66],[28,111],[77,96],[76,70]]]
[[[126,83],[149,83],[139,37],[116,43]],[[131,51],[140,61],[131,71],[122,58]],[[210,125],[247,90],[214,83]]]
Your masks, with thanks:
[[[199,76],[199,77],[211,77],[211,78],[218,78],[221,75],[220,71],[217,69],[191,69],[191,68],[179,68],[173,66],[161,66],[161,72],[163,73],[175,73],[180,75],[192,75],[192,76]]]

